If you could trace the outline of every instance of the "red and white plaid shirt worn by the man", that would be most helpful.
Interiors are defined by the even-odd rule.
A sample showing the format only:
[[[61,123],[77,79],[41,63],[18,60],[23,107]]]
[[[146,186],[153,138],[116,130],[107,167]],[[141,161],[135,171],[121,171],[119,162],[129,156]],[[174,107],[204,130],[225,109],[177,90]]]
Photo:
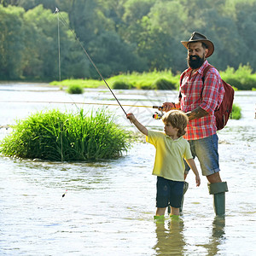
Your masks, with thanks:
[[[203,65],[191,75],[191,68],[183,72],[183,80],[180,85],[180,104],[183,112],[189,112],[197,107],[206,110],[209,115],[201,119],[189,120],[187,132],[184,136],[187,140],[197,140],[215,134],[214,110],[220,105],[224,96],[224,86],[216,68],[210,68],[202,81],[204,69],[209,65],[205,61]]]

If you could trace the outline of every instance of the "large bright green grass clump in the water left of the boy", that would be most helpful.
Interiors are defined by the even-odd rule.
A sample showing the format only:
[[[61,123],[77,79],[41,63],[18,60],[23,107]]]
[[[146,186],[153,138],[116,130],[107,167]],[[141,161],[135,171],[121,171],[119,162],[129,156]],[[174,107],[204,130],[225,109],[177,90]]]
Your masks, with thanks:
[[[6,156],[53,161],[108,160],[130,147],[130,135],[113,122],[103,108],[89,114],[34,113],[17,120],[9,136],[0,142]]]

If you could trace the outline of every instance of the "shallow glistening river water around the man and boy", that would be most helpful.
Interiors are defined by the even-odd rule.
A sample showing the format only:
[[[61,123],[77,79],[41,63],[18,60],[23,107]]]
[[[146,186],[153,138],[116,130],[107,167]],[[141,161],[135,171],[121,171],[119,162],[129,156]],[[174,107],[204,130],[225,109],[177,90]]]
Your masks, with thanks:
[[[105,89],[73,96],[47,84],[1,84],[0,90],[1,138],[10,131],[5,125],[39,110],[91,108],[67,102],[116,103]],[[177,96],[114,93],[132,106],[160,105]],[[134,143],[118,160],[96,163],[0,156],[0,255],[255,255],[256,91],[236,92],[235,103],[242,118],[230,119],[218,132],[221,177],[229,187],[224,218],[215,217],[207,179],[201,177],[196,188],[190,173],[180,220],[155,223],[154,147],[148,143]],[[119,124],[134,129],[118,106],[108,108]],[[124,108],[149,129],[162,129],[152,108]]]

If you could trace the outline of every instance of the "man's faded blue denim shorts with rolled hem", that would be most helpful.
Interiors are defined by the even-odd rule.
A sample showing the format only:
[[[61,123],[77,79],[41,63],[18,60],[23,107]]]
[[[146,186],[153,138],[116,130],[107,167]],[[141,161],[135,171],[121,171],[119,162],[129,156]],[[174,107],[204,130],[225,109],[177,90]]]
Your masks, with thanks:
[[[201,166],[201,173],[204,176],[219,172],[218,166],[218,135],[213,134],[198,140],[190,140],[190,149],[193,158],[197,157]],[[185,161],[185,174],[188,174],[190,167]]]

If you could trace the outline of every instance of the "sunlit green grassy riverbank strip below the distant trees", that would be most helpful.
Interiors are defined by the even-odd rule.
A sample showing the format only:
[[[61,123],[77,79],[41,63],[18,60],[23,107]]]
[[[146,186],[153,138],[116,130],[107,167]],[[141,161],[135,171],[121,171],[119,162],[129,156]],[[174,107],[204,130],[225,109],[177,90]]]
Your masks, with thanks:
[[[252,73],[249,66],[240,66],[237,70],[228,67],[220,71],[222,79],[232,85],[235,90],[256,90],[256,73]],[[112,89],[137,90],[174,90],[178,89],[180,74],[173,74],[172,70],[153,71],[148,73],[124,73],[106,79]],[[100,88],[105,86],[102,80],[96,79],[65,79],[53,81],[51,85],[61,88],[80,86],[82,88]]]

